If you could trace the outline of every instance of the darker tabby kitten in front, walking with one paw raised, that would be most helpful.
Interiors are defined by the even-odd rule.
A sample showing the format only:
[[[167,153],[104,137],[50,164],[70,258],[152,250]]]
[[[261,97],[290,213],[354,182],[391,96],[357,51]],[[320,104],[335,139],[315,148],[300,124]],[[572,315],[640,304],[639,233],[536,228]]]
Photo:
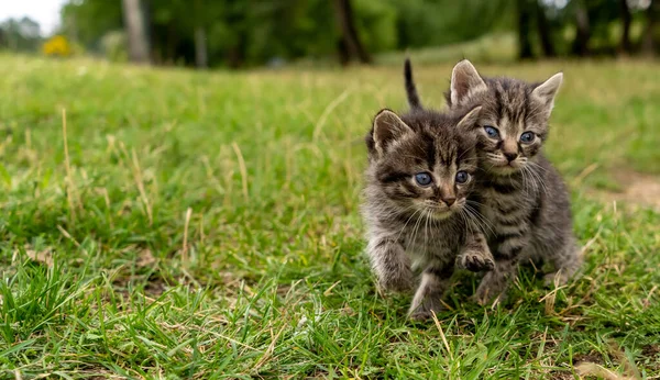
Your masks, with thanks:
[[[441,309],[460,250],[491,256],[483,253],[483,235],[469,233],[476,152],[475,139],[460,131],[476,122],[480,110],[460,118],[418,108],[399,118],[382,110],[365,137],[367,253],[381,289],[407,291],[413,270],[421,270],[409,309],[414,320]]]

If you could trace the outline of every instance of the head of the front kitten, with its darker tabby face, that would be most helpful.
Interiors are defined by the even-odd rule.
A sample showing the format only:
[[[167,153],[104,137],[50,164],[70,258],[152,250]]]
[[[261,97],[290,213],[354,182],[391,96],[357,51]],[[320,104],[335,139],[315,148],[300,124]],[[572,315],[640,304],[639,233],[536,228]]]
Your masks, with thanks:
[[[447,219],[465,206],[474,187],[474,139],[459,123],[474,123],[479,110],[462,119],[419,111],[399,119],[384,110],[367,135],[374,180],[406,213]]]

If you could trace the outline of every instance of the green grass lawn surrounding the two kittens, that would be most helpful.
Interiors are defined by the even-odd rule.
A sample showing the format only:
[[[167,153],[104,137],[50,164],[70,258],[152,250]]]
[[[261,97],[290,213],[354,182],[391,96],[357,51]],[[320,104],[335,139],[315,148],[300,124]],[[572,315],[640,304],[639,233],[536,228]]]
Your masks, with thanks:
[[[549,293],[522,271],[493,310],[463,273],[439,323],[413,325],[409,298],[374,291],[359,214],[362,136],[405,109],[398,67],[0,56],[0,377],[572,379],[580,360],[660,377],[660,214],[592,193],[660,172],[658,66],[481,69],[564,70],[547,149],[584,276]],[[427,104],[450,70],[418,67]]]

